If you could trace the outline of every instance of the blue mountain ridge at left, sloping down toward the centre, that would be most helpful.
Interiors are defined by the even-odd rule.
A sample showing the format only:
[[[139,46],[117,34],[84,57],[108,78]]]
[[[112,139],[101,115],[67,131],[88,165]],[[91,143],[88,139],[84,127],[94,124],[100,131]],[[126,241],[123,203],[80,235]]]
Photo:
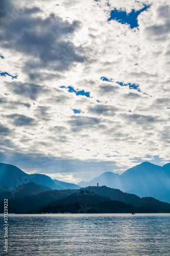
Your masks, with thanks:
[[[76,184],[52,180],[49,176],[44,174],[27,174],[14,165],[0,163],[0,192],[3,190],[14,190],[17,187],[30,182],[49,187],[51,189],[73,189],[80,187]]]

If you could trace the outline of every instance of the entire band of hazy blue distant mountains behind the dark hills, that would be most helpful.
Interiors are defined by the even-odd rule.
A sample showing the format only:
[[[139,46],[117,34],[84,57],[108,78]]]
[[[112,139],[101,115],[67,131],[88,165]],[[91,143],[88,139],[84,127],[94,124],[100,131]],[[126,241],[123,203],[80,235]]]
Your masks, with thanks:
[[[106,185],[139,197],[153,197],[170,203],[170,163],[164,166],[143,162],[127,169],[122,175],[106,172],[90,182],[78,185],[52,180],[47,175],[27,174],[14,165],[0,163],[0,193],[12,191],[27,183],[46,186],[51,189],[78,189],[87,186]]]

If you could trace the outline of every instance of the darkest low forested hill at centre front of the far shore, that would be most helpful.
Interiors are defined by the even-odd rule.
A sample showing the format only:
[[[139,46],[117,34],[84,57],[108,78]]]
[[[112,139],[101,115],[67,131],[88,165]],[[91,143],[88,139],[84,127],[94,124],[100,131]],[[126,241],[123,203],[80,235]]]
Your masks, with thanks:
[[[44,206],[38,212],[71,212],[77,213],[111,213],[111,212],[133,212],[136,207],[123,202],[110,200],[94,192],[85,194],[76,193],[62,198],[50,205]]]

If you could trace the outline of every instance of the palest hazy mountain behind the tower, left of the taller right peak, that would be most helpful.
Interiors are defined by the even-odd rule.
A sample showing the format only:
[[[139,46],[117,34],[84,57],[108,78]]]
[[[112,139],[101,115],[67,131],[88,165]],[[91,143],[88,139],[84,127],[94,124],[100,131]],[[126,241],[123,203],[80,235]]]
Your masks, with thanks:
[[[106,172],[100,175],[99,177],[92,179],[89,182],[81,181],[78,183],[78,185],[81,187],[96,186],[97,183],[99,183],[100,186],[105,185],[107,187],[114,187],[114,188],[120,188],[121,186],[119,175],[112,172]]]

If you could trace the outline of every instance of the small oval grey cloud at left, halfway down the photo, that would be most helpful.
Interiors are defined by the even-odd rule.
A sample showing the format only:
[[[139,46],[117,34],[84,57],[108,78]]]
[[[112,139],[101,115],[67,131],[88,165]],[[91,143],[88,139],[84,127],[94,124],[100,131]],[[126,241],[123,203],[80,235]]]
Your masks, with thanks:
[[[19,115],[19,114],[11,114],[8,115],[9,118],[11,118],[12,122],[16,126],[22,126],[22,125],[32,125],[34,119],[25,115]]]

